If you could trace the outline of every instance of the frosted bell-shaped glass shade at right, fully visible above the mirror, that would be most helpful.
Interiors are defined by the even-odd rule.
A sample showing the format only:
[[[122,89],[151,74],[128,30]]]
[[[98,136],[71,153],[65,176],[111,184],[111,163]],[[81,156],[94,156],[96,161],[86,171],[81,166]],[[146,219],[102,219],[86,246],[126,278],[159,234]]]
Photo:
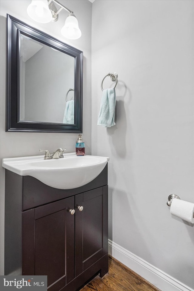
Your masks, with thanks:
[[[65,20],[65,25],[61,29],[63,36],[69,39],[77,39],[82,35],[78,26],[78,21],[75,15],[69,14]]]

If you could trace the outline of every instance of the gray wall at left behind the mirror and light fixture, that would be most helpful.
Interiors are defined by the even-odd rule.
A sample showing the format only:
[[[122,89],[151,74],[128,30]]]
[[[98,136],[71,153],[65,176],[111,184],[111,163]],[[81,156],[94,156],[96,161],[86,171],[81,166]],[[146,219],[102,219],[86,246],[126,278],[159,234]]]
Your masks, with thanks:
[[[2,0],[0,1],[0,66],[1,66],[1,91],[0,91],[0,157],[32,156],[38,155],[39,149],[48,149],[51,152],[58,147],[67,147],[68,152],[75,151],[75,141],[78,137],[73,133],[27,133],[5,132],[5,79],[6,79],[6,13],[38,28],[59,40],[83,51],[83,138],[86,153],[91,154],[91,25],[92,3],[88,0],[60,0],[61,4],[73,10],[79,21],[82,37],[77,40],[68,40],[61,35],[61,28],[65,23],[68,12],[59,13],[57,22],[41,24],[33,22],[28,17],[26,9],[30,0]],[[87,81],[86,81],[87,80]],[[5,170],[0,166],[0,274],[4,273],[4,199],[5,199]]]

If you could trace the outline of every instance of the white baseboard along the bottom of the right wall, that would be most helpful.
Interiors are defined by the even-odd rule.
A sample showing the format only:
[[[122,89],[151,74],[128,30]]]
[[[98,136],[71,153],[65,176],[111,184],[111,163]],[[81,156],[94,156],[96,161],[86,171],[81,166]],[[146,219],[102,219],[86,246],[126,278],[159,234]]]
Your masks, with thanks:
[[[109,254],[162,291],[194,291],[110,239]]]

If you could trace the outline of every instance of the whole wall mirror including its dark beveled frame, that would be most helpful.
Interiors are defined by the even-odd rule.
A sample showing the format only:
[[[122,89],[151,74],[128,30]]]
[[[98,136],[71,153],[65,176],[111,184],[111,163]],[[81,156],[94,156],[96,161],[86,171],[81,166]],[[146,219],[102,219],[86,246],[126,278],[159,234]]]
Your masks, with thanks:
[[[6,131],[82,132],[83,53],[7,15]]]

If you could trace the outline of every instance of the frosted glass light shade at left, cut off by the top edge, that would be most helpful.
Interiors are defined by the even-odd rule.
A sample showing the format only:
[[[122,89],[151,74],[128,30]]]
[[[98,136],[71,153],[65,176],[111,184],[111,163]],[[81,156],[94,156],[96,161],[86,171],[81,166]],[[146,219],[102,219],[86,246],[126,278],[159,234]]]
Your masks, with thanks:
[[[47,23],[52,20],[52,13],[49,10],[47,0],[32,0],[27,8],[28,15],[35,21]]]

